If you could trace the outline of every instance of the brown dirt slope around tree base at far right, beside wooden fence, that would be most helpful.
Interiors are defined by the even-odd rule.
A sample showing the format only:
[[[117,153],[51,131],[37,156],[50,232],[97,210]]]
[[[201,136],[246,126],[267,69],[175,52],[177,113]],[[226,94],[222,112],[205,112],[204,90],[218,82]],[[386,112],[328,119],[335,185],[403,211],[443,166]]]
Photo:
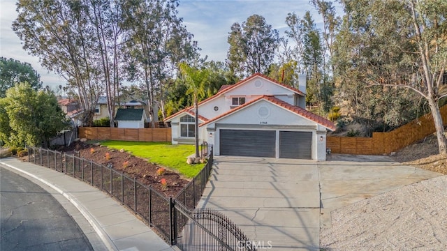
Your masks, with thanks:
[[[447,174],[447,155],[438,153],[437,137],[434,134],[398,151],[392,158],[404,165]]]

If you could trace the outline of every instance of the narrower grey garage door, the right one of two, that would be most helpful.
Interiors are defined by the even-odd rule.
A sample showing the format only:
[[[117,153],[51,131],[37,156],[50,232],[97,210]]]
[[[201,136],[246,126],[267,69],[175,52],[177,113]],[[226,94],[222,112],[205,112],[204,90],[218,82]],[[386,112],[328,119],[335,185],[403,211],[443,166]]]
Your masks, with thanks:
[[[279,158],[312,159],[312,132],[279,132]]]

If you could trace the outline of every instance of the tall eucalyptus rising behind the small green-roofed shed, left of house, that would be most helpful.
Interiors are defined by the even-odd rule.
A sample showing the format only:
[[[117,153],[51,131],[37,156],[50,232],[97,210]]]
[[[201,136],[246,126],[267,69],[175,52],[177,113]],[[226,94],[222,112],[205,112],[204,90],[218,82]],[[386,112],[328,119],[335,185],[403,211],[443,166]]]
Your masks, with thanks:
[[[198,50],[192,34],[177,17],[178,0],[124,1],[123,24],[129,32],[129,79],[145,86],[152,124],[163,116],[166,88],[178,63],[189,61]]]

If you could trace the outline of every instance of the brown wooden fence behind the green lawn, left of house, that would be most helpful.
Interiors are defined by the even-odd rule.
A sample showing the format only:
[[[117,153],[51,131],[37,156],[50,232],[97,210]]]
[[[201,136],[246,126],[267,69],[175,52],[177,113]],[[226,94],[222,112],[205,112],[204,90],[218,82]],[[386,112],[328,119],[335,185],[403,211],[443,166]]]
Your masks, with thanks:
[[[79,137],[87,139],[110,139],[136,142],[170,142],[170,128],[79,128]]]

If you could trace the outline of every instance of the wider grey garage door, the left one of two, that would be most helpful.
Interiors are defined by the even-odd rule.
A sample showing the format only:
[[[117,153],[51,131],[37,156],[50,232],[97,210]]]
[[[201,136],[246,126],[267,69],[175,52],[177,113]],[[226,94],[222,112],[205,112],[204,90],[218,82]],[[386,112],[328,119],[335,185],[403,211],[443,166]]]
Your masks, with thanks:
[[[274,158],[274,130],[220,130],[220,154]]]

